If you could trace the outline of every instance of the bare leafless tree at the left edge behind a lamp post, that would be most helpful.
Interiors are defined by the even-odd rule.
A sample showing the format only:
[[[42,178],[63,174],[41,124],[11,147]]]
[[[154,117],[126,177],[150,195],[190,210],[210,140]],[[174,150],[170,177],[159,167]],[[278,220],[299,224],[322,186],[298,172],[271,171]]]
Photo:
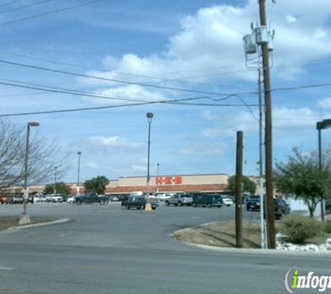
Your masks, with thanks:
[[[26,126],[15,125],[0,120],[0,192],[22,185],[24,180],[24,157],[26,148]],[[66,155],[63,155],[54,141],[33,132],[29,142],[29,184],[45,183],[54,175],[54,166],[58,176],[63,176]]]

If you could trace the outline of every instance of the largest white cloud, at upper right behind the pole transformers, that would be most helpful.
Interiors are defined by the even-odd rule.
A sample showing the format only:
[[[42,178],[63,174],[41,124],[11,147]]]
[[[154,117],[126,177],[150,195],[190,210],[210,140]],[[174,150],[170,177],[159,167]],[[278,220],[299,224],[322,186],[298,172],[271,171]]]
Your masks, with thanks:
[[[243,7],[222,5],[201,8],[194,15],[187,15],[180,20],[180,31],[169,39],[167,51],[150,56],[124,54],[119,59],[107,56],[106,60],[115,72],[167,79],[222,74],[224,71],[236,73],[222,75],[222,79],[256,79],[255,73],[238,70],[247,70],[243,54],[243,36],[250,33],[252,11],[257,13],[257,10],[256,0],[249,0]],[[272,29],[276,31],[275,65],[330,56],[331,36],[325,22],[331,16],[331,1],[319,0],[305,5],[299,0],[279,1],[270,6],[270,11]],[[302,68],[276,69],[275,75],[284,79],[293,79],[305,73]],[[146,81],[142,77],[130,77],[115,72],[98,75],[113,79]],[[191,78],[198,82],[207,79]]]

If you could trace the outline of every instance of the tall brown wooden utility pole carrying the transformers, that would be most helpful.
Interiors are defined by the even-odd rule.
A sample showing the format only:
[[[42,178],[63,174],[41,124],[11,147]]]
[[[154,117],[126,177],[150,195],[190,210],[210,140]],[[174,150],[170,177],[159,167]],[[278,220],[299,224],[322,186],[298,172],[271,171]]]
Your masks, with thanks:
[[[267,26],[265,13],[265,0],[259,0],[260,24]],[[273,183],[272,183],[272,110],[271,110],[271,92],[270,92],[270,65],[268,42],[262,45],[263,59],[263,82],[265,94],[265,186],[266,186],[266,215],[268,226],[269,248],[276,248],[275,238],[275,216],[273,203]]]

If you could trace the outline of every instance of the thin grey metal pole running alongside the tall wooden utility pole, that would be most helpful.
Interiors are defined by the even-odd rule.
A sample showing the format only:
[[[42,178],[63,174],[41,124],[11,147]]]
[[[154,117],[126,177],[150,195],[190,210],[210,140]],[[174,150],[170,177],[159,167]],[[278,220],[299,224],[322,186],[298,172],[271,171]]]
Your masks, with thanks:
[[[259,66],[259,185],[260,185],[260,225],[261,225],[261,248],[265,249],[265,226],[264,226],[264,199],[263,199],[263,111],[261,91],[261,68]]]

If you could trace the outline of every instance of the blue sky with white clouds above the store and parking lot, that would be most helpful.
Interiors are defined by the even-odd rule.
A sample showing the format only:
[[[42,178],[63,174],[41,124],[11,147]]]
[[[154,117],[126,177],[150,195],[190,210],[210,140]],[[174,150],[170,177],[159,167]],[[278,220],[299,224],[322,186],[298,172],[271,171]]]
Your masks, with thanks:
[[[189,102],[237,105],[152,104],[8,117],[8,121],[20,125],[38,121],[38,131],[55,139],[63,153],[69,153],[68,173],[62,180],[77,180],[77,151],[82,151],[82,180],[98,175],[111,179],[145,175],[146,112],[154,114],[152,174],[156,173],[157,163],[162,175],[233,174],[238,130],[244,132],[245,138],[244,172],[257,174],[259,125],[254,116],[258,116],[258,109],[243,105],[243,100],[249,105],[258,103],[257,95],[247,95],[256,92],[257,71],[247,70],[243,52],[243,36],[250,33],[250,23],[256,22],[258,15],[256,0],[183,0],[171,5],[164,0],[98,1],[7,24],[88,0],[8,2],[0,1],[1,61],[132,84],[8,63],[1,63],[0,82],[10,79],[19,81],[11,84],[32,83],[107,98],[157,102],[204,97]],[[276,32],[272,88],[330,83],[330,1],[307,1],[305,5],[298,0],[267,2],[268,22]],[[36,5],[21,8],[33,3]],[[132,103],[0,87],[0,114]],[[323,86],[272,93],[275,160],[284,160],[293,146],[302,146],[303,152],[316,148],[316,121],[331,118],[330,89]],[[233,95],[217,102],[215,99],[224,96],[215,93],[238,94],[240,98]],[[325,147],[330,146],[330,138],[331,130],[323,131]]]

